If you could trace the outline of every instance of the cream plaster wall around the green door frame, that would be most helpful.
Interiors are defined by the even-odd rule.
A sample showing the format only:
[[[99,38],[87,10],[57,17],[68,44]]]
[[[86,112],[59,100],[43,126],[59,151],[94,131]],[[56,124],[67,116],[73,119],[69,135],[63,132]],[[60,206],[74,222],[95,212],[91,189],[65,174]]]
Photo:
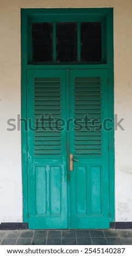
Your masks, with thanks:
[[[115,113],[125,131],[115,131],[116,221],[132,221],[132,1],[0,1],[0,222],[22,221],[21,132],[7,120],[21,113],[21,8],[114,7]]]

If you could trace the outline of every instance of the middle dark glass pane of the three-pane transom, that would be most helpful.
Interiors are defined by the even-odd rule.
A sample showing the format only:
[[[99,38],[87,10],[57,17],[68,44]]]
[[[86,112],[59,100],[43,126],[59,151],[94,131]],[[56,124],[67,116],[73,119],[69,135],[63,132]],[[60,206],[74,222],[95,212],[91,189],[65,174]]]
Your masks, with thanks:
[[[57,62],[77,61],[77,23],[56,23],[56,60]]]

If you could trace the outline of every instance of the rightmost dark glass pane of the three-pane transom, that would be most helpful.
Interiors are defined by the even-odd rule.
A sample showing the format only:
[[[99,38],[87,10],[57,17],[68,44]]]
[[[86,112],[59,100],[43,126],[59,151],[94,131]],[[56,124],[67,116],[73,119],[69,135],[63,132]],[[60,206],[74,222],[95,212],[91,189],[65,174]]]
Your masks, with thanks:
[[[100,22],[81,22],[80,27],[82,62],[102,60],[102,29]]]

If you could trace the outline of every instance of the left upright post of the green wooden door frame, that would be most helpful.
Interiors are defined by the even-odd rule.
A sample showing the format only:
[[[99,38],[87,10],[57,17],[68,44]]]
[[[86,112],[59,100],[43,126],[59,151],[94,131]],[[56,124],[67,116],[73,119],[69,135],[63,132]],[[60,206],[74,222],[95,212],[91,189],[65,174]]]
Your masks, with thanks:
[[[21,33],[22,41],[21,44],[22,52],[22,65],[21,70],[21,117],[27,120],[27,15],[21,13]],[[25,41],[26,40],[26,41]],[[23,222],[28,223],[28,179],[27,179],[27,129],[25,129],[23,122],[21,123],[21,141],[22,141],[22,193],[23,193]]]

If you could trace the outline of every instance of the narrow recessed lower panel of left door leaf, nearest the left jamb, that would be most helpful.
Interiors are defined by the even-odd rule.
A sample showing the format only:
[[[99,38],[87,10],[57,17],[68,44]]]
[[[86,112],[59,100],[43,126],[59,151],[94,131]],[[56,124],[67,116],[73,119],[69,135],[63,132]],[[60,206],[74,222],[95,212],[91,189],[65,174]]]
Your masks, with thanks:
[[[36,214],[46,215],[46,167],[36,167]]]

